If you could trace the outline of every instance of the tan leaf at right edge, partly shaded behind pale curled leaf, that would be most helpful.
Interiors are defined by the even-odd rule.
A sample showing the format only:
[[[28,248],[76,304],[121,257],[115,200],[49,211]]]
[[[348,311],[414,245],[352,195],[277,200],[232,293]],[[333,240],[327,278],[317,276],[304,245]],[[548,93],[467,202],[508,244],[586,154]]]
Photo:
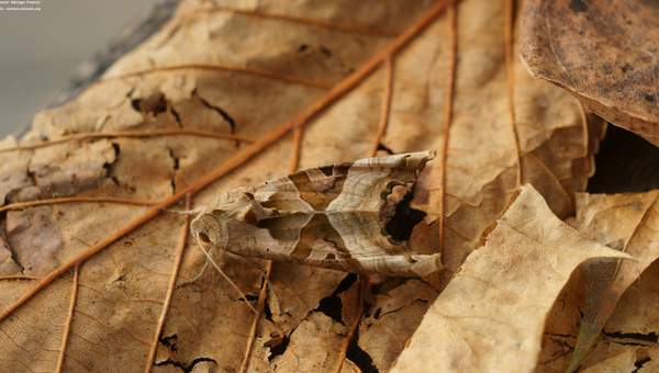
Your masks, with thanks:
[[[579,194],[577,230],[612,248],[632,255],[634,261],[611,261],[587,265],[585,307],[569,371],[579,366],[618,298],[625,290],[659,258],[659,192],[634,195]]]

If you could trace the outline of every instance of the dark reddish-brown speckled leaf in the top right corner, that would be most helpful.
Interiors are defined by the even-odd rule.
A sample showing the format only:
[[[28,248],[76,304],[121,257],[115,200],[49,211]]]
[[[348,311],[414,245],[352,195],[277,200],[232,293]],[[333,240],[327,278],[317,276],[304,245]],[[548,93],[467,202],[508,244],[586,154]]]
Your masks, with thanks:
[[[522,56],[534,76],[659,146],[656,2],[529,0],[522,19]]]

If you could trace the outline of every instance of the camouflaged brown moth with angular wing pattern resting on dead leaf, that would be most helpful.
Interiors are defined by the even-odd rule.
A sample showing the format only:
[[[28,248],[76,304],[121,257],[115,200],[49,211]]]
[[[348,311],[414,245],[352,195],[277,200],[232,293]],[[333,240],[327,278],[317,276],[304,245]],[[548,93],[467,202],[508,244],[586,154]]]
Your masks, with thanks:
[[[407,239],[424,213],[410,208],[431,152],[312,168],[221,194],[192,222],[201,245],[243,256],[358,273],[422,276],[439,253]],[[205,250],[204,250],[205,251]]]

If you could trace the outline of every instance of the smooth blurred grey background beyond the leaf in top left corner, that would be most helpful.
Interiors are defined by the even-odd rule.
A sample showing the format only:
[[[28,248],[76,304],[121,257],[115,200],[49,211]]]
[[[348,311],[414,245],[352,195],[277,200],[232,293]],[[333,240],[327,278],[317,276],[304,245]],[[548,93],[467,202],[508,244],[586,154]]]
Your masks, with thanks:
[[[158,0],[42,0],[0,11],[0,137],[32,122],[94,52]]]

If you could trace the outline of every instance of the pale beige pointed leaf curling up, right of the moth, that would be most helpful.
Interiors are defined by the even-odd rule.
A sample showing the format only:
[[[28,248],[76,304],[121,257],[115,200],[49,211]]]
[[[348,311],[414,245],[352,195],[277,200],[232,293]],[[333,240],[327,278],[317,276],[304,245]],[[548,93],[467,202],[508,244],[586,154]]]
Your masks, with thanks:
[[[581,236],[524,187],[391,372],[533,372],[554,301],[577,265],[602,257],[627,256]]]

